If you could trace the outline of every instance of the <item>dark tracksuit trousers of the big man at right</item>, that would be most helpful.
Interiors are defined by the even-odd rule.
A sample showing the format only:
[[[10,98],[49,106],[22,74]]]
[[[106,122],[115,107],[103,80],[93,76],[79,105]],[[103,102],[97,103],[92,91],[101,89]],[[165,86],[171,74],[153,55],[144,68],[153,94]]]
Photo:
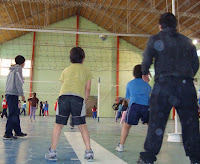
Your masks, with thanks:
[[[167,77],[156,80],[150,98],[150,118],[145,152],[140,157],[145,162],[156,161],[166,123],[172,107],[176,108],[182,126],[183,145],[191,161],[200,161],[200,134],[196,90],[191,79]]]

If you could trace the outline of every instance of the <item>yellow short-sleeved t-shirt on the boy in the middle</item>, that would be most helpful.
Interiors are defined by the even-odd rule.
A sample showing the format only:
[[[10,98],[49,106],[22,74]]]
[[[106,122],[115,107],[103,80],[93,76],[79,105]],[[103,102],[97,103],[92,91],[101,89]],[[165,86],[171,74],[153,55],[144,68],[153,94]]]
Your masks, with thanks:
[[[85,97],[85,85],[88,80],[93,78],[90,70],[83,64],[74,63],[66,67],[60,76],[63,82],[60,89],[60,96],[64,94],[75,94],[82,98]]]

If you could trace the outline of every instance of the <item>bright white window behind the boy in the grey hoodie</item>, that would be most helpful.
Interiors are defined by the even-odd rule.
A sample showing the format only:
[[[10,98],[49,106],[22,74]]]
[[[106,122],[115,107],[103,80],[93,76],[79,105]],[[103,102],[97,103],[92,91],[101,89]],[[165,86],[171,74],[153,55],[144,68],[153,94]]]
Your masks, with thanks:
[[[14,59],[0,59],[0,76],[7,76],[10,72],[9,68],[11,65],[15,64]],[[22,74],[24,77],[30,77],[31,60],[25,61],[25,66],[22,69]]]

